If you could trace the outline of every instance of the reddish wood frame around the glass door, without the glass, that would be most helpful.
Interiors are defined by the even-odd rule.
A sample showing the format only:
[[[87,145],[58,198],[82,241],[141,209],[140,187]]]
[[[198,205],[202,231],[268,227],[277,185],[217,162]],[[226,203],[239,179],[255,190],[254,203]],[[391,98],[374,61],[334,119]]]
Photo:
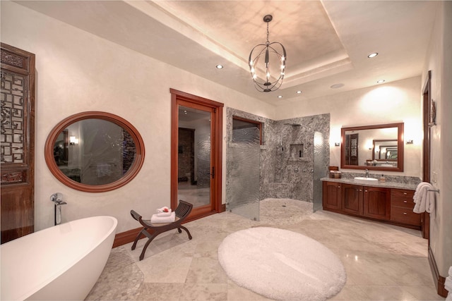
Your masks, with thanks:
[[[194,208],[187,220],[200,219],[203,216],[222,211],[222,110],[224,104],[210,99],[198,97],[179,90],[169,89],[171,92],[171,207],[177,207],[178,188],[178,146],[179,146],[179,104],[184,106],[208,107],[211,114],[211,165],[215,166],[215,176],[211,180],[212,192],[210,204]]]

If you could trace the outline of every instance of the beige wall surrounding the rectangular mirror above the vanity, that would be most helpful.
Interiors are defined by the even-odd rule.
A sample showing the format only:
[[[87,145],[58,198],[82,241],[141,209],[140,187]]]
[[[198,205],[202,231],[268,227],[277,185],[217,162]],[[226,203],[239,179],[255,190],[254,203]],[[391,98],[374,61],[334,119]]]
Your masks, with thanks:
[[[369,87],[333,96],[302,100],[287,106],[279,106],[277,119],[330,113],[330,165],[340,166],[340,128],[384,123],[405,123],[404,171],[386,172],[399,176],[422,177],[422,118],[421,78],[408,78],[386,85]],[[355,171],[344,170],[343,171]],[[364,172],[364,171],[363,171]]]

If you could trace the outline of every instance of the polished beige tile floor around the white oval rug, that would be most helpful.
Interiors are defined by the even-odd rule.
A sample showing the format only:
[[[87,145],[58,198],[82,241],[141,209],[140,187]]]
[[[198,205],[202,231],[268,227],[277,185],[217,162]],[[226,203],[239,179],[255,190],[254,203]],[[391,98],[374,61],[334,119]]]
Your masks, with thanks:
[[[444,300],[436,295],[420,231],[328,211],[310,214],[310,205],[270,199],[261,206],[261,221],[230,212],[191,221],[185,226],[193,240],[169,231],[150,244],[141,262],[145,240],[134,251],[131,244],[114,248],[86,300],[268,300],[230,281],[217,259],[227,235],[255,226],[302,233],[335,252],[347,283],[331,300]]]

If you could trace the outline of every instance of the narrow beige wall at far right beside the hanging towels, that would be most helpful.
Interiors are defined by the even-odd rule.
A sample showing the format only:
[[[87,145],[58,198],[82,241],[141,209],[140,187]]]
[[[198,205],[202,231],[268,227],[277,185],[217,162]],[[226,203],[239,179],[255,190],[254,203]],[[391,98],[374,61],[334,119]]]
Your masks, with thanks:
[[[431,182],[440,190],[436,213],[430,221],[430,247],[439,274],[448,276],[452,266],[452,2],[441,2],[429,44],[422,82],[432,70],[432,99],[436,125],[432,127]]]

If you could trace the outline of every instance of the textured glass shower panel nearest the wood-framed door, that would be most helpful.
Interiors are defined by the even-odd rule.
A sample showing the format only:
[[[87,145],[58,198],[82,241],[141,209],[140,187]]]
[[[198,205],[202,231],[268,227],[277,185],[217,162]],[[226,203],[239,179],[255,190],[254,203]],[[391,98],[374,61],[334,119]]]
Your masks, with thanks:
[[[233,122],[227,149],[227,210],[255,221],[259,220],[260,137],[256,124]]]

